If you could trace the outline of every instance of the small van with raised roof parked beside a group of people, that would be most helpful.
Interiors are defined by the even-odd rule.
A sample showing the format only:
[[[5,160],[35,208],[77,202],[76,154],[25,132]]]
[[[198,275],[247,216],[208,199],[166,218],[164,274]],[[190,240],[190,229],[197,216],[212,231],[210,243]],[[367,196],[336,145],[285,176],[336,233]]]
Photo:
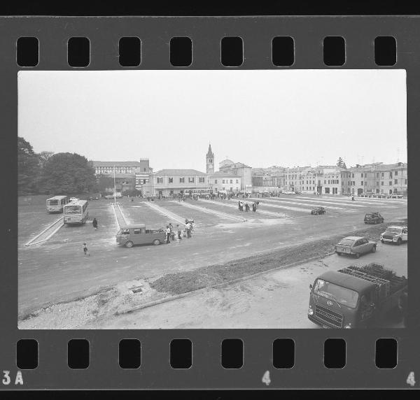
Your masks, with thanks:
[[[160,245],[165,243],[166,232],[163,229],[146,229],[145,224],[130,224],[121,226],[117,232],[117,243],[126,248],[133,245]]]

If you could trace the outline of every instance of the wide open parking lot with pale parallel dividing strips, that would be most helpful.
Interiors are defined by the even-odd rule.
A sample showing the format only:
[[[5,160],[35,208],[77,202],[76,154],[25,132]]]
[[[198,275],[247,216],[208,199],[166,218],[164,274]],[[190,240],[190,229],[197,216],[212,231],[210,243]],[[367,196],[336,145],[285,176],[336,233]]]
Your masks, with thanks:
[[[166,227],[193,218],[193,238],[170,245],[116,245],[118,224],[111,200],[90,201],[85,225],[62,227],[48,241],[34,247],[25,243],[59,215],[45,212],[45,199],[19,199],[18,285],[19,315],[25,317],[45,306],[73,301],[98,293],[124,281],[153,280],[168,273],[193,271],[203,266],[282,250],[297,243],[309,243],[365,229],[365,213],[379,211],[387,222],[407,218],[404,199],[363,199],[284,195],[260,201],[256,213],[240,212],[235,200],[192,201],[193,207],[178,201],[160,200],[158,210],[139,198],[119,199],[127,222],[146,227]],[[313,206],[323,206],[325,215],[310,215]],[[172,217],[165,216],[168,212]],[[176,220],[174,219],[176,216]],[[96,217],[99,229],[90,223]],[[246,220],[245,222],[241,219]],[[87,243],[90,256],[83,255]],[[404,246],[406,249],[406,246]],[[304,257],[304,255],[302,255]]]

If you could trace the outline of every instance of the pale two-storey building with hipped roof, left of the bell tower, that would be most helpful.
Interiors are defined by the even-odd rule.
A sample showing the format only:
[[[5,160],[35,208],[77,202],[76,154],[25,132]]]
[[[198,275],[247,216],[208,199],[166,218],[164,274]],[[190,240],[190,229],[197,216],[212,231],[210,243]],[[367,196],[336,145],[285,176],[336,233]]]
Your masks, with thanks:
[[[153,173],[151,185],[148,185],[146,195],[171,196],[186,190],[209,190],[207,173],[195,169],[161,169]]]

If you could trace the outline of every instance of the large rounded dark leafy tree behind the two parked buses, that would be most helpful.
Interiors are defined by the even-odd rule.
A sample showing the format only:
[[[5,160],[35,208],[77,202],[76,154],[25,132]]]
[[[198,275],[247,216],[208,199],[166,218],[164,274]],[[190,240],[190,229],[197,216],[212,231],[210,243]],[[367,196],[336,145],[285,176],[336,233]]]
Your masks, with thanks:
[[[82,155],[60,152],[45,162],[40,185],[50,194],[90,192],[95,185],[94,168]]]

